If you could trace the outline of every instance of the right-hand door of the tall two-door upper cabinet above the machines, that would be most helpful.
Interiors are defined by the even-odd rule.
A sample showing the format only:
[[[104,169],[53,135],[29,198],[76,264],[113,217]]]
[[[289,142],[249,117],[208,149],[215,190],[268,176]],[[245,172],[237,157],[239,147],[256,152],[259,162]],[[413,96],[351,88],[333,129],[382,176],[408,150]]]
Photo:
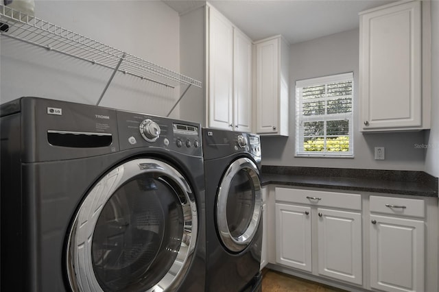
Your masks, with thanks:
[[[252,41],[234,29],[233,50],[233,127],[252,132]]]

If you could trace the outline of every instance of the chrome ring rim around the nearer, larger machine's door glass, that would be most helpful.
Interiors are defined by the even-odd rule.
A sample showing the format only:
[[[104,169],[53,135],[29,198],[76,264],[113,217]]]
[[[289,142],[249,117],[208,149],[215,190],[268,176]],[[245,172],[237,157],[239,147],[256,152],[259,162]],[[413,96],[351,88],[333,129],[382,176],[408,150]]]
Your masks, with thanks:
[[[139,175],[154,175],[154,178],[163,180],[164,183],[169,182],[169,190],[175,192],[184,218],[182,234],[174,239],[180,242],[180,246],[176,250],[168,251],[176,253],[174,262],[170,264],[165,276],[150,284],[150,288],[145,291],[175,290],[185,277],[198,232],[195,197],[187,180],[174,167],[160,160],[140,158],[125,162],[110,171],[93,186],[82,202],[73,221],[67,245],[67,272],[73,291],[104,291],[93,268],[92,243],[97,221],[112,195]],[[147,269],[145,267],[145,271]]]

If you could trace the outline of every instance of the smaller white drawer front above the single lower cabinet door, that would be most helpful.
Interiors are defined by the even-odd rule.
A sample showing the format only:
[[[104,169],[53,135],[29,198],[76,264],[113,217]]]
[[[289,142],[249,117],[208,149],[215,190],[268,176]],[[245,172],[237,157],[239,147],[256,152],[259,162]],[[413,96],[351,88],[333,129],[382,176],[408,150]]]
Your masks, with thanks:
[[[425,202],[423,199],[371,195],[370,212],[423,218],[425,217]]]

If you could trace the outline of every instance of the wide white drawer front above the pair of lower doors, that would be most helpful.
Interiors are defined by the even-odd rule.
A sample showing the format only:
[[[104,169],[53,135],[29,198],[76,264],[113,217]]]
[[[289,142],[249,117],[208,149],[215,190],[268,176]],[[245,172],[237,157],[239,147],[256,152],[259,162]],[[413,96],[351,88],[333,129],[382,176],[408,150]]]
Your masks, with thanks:
[[[350,193],[276,188],[276,201],[361,210],[361,195]]]

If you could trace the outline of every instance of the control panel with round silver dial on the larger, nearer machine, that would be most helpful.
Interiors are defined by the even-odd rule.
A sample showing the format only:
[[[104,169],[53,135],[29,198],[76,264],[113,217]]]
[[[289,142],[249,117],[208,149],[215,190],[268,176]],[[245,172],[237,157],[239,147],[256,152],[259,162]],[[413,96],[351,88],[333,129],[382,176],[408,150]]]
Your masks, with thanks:
[[[136,112],[117,112],[121,150],[162,147],[191,156],[202,156],[201,127],[198,123]]]

